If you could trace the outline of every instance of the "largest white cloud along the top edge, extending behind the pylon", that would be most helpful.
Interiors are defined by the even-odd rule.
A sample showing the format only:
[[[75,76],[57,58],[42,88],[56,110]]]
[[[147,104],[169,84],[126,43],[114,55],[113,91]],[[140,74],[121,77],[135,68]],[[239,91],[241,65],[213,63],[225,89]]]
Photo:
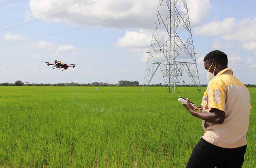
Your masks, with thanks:
[[[35,16],[60,6],[65,6],[61,0],[30,0],[30,10]],[[157,0],[104,0],[90,6],[80,7],[85,2],[77,2],[76,0],[68,0],[65,2],[73,2],[73,5],[61,8],[58,12],[67,10],[68,12],[47,18],[53,22],[66,22],[76,25],[87,25],[101,22],[110,18],[118,18],[126,16],[134,12],[142,11],[147,8],[157,7]],[[209,12],[211,4],[210,0],[187,0],[192,25],[198,24]],[[88,4],[88,1],[87,1]],[[76,10],[73,10],[76,8]],[[57,12],[57,11],[55,11]],[[49,13],[37,15],[38,18],[45,18]],[[114,22],[104,22],[100,26],[118,27],[118,28],[152,28],[154,19],[156,18],[156,10],[148,10],[134,14],[129,17],[115,20]]]

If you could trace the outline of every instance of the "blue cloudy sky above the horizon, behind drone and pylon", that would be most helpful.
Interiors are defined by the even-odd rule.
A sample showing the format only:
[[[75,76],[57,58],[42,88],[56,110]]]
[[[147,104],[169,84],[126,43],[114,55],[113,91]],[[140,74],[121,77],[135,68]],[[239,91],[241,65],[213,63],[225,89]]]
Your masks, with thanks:
[[[256,1],[187,3],[200,83],[208,83],[204,56],[221,50],[234,76],[256,84]],[[158,0],[2,0],[0,83],[142,84],[157,6]],[[62,72],[41,62],[55,59],[76,68]],[[182,80],[192,83],[186,74]],[[160,72],[157,83],[164,83]]]

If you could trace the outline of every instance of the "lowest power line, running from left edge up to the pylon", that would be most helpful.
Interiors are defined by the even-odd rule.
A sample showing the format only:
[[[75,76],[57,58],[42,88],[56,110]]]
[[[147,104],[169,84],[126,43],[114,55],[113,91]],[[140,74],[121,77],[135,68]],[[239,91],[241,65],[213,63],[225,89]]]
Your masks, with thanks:
[[[111,19],[108,19],[108,20],[102,20],[101,22],[96,22],[96,23],[85,25],[85,26],[80,26],[80,27],[77,27],[77,28],[72,28],[72,29],[69,29],[69,30],[64,30],[64,31],[61,31],[61,32],[56,32],[56,33],[48,34],[48,35],[45,35],[45,36],[31,38],[31,39],[23,40],[23,41],[20,41],[20,42],[14,42],[14,43],[10,43],[10,44],[5,44],[5,45],[0,46],[0,48],[6,47],[6,46],[12,46],[12,45],[20,44],[20,43],[24,43],[24,42],[30,42],[30,41],[37,40],[37,39],[40,39],[40,38],[50,37],[50,36],[54,36],[54,35],[58,35],[58,34],[66,33],[66,32],[71,32],[71,31],[74,31],[74,30],[78,30],[78,29],[82,29],[82,28],[87,28],[87,27],[98,25],[98,24],[102,24],[102,23],[105,23],[105,22],[119,20],[121,18],[127,18],[129,16],[132,16],[132,15],[135,15],[135,14],[139,14],[139,13],[143,13],[143,12],[146,12],[146,11],[149,11],[149,10],[152,10],[152,9],[156,9],[156,6],[154,6],[152,8],[147,8],[147,9],[144,9],[144,10],[140,10],[138,12],[133,12],[133,13],[130,13],[130,14],[127,14],[127,15],[124,15],[124,16],[117,17],[117,18],[111,18]]]

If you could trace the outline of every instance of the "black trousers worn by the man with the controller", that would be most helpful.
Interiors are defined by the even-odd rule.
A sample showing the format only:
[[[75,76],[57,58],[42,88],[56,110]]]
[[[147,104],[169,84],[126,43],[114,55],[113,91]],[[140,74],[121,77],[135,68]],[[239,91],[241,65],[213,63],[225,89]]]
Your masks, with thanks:
[[[246,146],[233,149],[221,148],[201,138],[186,168],[241,168],[245,152]]]

